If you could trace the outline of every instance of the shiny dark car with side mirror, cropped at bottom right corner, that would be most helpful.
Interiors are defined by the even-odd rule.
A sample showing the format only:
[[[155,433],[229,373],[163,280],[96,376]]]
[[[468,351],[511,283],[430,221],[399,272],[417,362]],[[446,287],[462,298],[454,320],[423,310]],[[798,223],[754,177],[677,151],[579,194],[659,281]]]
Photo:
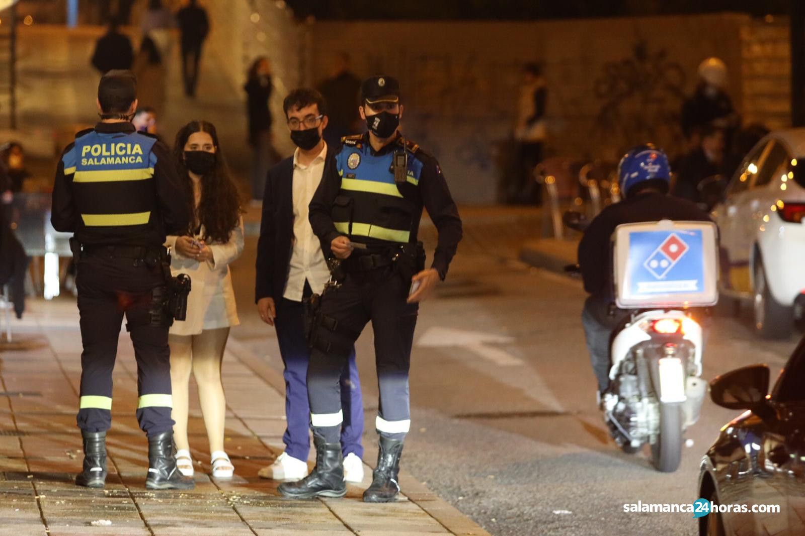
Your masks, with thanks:
[[[700,466],[699,497],[749,511],[700,517],[701,536],[805,534],[805,340],[770,395],[768,365],[751,365],[710,382],[713,402],[747,410],[721,428]],[[752,512],[779,505],[779,512]],[[760,510],[760,508],[758,508]]]

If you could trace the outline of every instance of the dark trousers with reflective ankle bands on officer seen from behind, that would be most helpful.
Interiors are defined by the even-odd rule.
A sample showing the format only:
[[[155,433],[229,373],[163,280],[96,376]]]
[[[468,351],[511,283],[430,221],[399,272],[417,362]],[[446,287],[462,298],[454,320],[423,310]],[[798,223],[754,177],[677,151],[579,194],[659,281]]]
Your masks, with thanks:
[[[137,361],[137,420],[147,435],[173,428],[171,419],[171,353],[167,322],[152,291],[164,287],[162,266],[112,254],[82,254],[77,266],[78,311],[81,315],[81,402],[76,421],[84,431],[112,426],[112,371],[118,338],[126,316]]]

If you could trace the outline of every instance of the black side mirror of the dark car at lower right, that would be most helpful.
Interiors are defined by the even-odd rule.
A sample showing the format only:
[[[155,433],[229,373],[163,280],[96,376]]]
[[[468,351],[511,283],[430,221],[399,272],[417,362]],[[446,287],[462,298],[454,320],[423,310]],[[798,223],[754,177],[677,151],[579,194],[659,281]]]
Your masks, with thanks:
[[[769,365],[749,365],[721,374],[710,381],[710,398],[729,410],[757,412],[767,407],[769,376]]]

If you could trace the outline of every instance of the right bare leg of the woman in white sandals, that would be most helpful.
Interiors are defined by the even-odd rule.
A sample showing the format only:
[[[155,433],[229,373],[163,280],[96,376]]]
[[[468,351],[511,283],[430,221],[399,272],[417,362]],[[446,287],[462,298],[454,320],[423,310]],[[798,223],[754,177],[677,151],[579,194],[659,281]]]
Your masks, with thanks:
[[[210,452],[224,450],[226,399],[221,384],[221,361],[228,337],[229,328],[218,328],[205,329],[193,338],[193,376],[199,389]]]

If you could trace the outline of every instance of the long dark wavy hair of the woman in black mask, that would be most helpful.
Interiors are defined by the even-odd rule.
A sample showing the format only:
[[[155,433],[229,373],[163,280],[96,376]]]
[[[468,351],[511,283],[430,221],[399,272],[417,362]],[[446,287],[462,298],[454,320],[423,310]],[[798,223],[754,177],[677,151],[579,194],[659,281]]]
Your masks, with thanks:
[[[188,138],[196,132],[206,132],[213,138],[216,148],[215,167],[201,177],[201,201],[196,207],[193,196],[193,183],[188,168],[184,165],[184,146]],[[229,235],[237,227],[242,214],[241,200],[237,195],[237,188],[229,175],[221,146],[218,143],[218,133],[213,123],[206,121],[192,121],[183,126],[176,133],[173,145],[173,155],[179,174],[184,185],[184,192],[188,196],[188,203],[193,208],[193,221],[188,234],[192,235],[198,225],[204,225],[204,241],[229,241]]]

